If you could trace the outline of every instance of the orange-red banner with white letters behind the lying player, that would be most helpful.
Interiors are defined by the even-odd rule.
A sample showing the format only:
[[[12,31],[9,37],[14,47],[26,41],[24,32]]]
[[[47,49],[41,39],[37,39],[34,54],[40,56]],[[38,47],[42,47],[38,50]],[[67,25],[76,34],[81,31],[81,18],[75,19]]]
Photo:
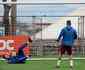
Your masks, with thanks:
[[[17,36],[0,36],[0,56],[10,55],[12,50],[15,48],[16,52],[18,48],[26,41],[29,41],[29,36],[17,35]],[[31,39],[31,38],[30,38]],[[30,49],[25,48],[24,53],[30,54]]]

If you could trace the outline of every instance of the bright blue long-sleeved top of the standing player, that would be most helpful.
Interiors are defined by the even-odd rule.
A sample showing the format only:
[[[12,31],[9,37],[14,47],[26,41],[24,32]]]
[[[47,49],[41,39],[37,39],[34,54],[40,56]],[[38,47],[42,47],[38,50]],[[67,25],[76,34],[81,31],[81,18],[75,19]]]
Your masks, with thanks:
[[[73,46],[74,40],[77,39],[77,32],[72,27],[65,27],[61,30],[58,40],[62,38],[62,44]]]

